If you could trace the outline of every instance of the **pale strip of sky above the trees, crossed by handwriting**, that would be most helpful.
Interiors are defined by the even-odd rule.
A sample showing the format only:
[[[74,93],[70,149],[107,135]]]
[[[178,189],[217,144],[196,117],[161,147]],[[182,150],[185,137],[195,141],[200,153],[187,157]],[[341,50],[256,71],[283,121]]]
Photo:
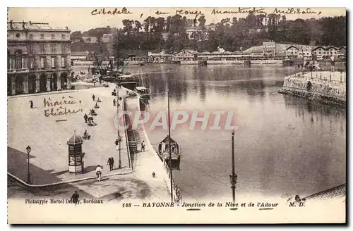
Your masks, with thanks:
[[[97,9],[97,10],[96,10]],[[105,12],[114,11],[115,8],[104,8]],[[231,13],[215,13],[215,11],[232,11]],[[241,12],[249,11],[252,8],[241,7]],[[295,20],[296,18],[321,18],[346,15],[345,8],[310,8],[309,13],[307,7],[301,7],[300,14],[297,14],[297,8],[289,11],[289,8],[277,8],[278,11],[287,11],[286,18]],[[96,11],[95,11],[96,10]],[[275,8],[256,7],[256,11],[265,12],[267,14],[274,13]],[[117,8],[117,11],[123,11],[122,7]],[[158,15],[160,13],[165,13]],[[239,13],[239,8],[133,8],[126,7],[126,11],[121,14],[111,15],[98,14],[102,12],[102,8],[8,8],[8,20],[31,21],[34,23],[49,23],[55,27],[68,27],[71,31],[86,31],[95,27],[121,27],[123,19],[143,20],[148,16],[164,17],[179,13],[186,18],[195,18],[205,15],[206,25],[210,23],[218,23],[222,18],[245,18],[248,13]],[[127,13],[130,12],[130,13]],[[92,15],[92,13],[97,13]],[[295,14],[294,14],[295,13]],[[282,13],[281,13],[282,14]]]

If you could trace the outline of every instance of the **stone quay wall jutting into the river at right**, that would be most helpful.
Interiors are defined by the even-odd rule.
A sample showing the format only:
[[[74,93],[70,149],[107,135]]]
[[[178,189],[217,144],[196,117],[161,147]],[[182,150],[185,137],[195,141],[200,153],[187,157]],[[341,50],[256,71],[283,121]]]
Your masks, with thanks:
[[[299,73],[288,75],[279,93],[300,96],[326,104],[346,106],[346,83],[337,80],[321,80]]]

